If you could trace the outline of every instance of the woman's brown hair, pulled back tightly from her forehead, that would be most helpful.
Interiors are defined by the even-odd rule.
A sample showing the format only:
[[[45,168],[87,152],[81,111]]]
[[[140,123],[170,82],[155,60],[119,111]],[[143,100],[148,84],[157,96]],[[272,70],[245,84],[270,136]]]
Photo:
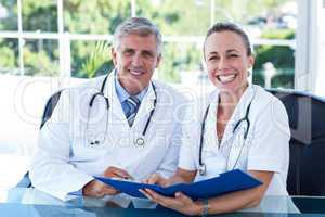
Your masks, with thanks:
[[[220,23],[214,24],[211,28],[209,28],[209,30],[206,35],[206,38],[205,38],[205,42],[204,42],[204,52],[205,52],[205,44],[206,44],[208,37],[210,35],[212,35],[213,33],[221,33],[221,31],[232,31],[232,33],[235,33],[238,36],[240,36],[240,38],[244,42],[244,46],[246,48],[247,55],[252,54],[252,48],[251,48],[248,35],[239,26],[237,26],[234,23],[230,23],[230,22],[220,22]]]

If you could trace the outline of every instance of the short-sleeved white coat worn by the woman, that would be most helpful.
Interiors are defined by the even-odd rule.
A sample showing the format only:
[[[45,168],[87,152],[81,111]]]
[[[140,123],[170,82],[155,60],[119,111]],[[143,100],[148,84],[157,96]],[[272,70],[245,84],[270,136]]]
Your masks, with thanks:
[[[216,128],[218,98],[219,92],[216,90],[209,97],[194,103],[186,113],[179,167],[188,170],[199,168],[200,127],[204,113],[210,104],[203,146],[203,162],[206,164],[207,173],[205,176],[197,173],[196,180],[218,176],[220,173],[233,168],[244,171],[274,171],[265,194],[287,195],[286,178],[289,164],[290,131],[283,103],[261,87],[249,86],[229,120],[220,148],[218,148]],[[244,132],[247,124],[242,123],[235,133],[233,133],[233,129],[236,123],[245,117],[250,102],[252,102],[249,112],[250,129],[245,142]],[[239,154],[242,146],[242,154]]]

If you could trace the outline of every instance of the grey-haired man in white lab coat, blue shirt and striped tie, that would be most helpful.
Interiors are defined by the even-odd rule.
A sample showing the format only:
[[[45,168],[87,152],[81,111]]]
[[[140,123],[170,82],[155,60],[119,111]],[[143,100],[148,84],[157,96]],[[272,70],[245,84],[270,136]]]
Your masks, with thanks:
[[[64,90],[42,127],[30,168],[34,187],[62,200],[75,191],[102,197],[118,192],[94,175],[141,180],[173,174],[185,101],[152,81],[161,47],[158,28],[146,18],[117,27],[115,71]]]

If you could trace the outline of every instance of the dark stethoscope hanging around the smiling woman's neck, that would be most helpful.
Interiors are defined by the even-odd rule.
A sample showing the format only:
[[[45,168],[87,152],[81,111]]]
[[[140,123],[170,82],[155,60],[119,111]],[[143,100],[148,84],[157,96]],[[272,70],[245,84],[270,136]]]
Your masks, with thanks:
[[[232,169],[234,169],[238,163],[238,159],[242,155],[242,152],[243,152],[243,148],[246,143],[246,139],[247,139],[247,136],[248,136],[248,131],[249,131],[249,128],[250,128],[250,120],[248,118],[248,115],[249,115],[249,111],[250,111],[250,105],[252,103],[252,100],[255,98],[255,94],[252,95],[251,98],[251,101],[249,102],[247,108],[246,108],[246,113],[245,113],[245,116],[243,118],[240,118],[234,126],[233,128],[233,135],[235,135],[236,130],[239,128],[240,124],[242,123],[246,123],[247,124],[247,127],[245,129],[245,132],[244,132],[244,144],[242,145],[240,150],[239,150],[239,154],[236,158],[236,162],[233,166]],[[205,127],[206,127],[206,120],[207,120],[207,116],[208,116],[208,113],[209,113],[209,108],[210,108],[210,104],[208,105],[208,107],[206,108],[205,111],[205,115],[204,115],[204,119],[203,119],[203,123],[200,125],[200,139],[199,139],[199,155],[198,155],[198,173],[200,176],[205,176],[207,174],[207,166],[206,164],[203,162],[203,145],[204,145],[204,131],[205,131]],[[229,157],[230,158],[230,157]]]

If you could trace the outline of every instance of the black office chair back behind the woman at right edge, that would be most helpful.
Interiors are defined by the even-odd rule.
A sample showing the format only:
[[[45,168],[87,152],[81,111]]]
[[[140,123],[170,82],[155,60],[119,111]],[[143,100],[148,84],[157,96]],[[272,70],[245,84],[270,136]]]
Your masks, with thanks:
[[[291,131],[287,190],[325,195],[325,99],[296,90],[268,89],[285,105]]]

